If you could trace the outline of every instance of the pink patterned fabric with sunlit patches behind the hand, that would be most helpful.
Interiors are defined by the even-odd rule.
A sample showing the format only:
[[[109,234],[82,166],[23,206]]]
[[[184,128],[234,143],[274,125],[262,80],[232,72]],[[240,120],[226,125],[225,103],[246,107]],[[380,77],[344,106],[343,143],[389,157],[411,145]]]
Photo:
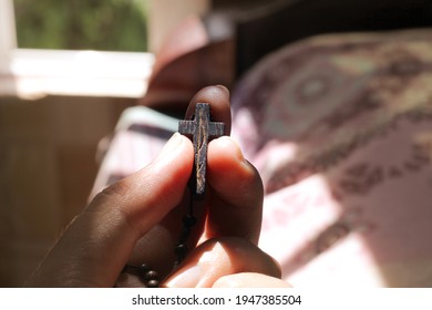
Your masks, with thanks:
[[[323,37],[239,83],[260,246],[295,286],[432,285],[432,31]]]

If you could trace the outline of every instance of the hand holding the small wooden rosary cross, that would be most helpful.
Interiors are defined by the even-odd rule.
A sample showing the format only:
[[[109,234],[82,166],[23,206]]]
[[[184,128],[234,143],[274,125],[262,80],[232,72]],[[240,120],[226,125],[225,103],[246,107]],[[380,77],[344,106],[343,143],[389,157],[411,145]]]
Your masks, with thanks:
[[[226,123],[228,134],[228,92],[218,86],[202,90],[192,100],[188,114],[197,102],[210,104],[214,118]],[[224,285],[224,276],[246,271],[279,277],[275,261],[256,247],[261,180],[227,136],[208,146],[206,198],[195,208],[198,225],[188,244],[193,249],[199,246],[167,276],[188,203],[193,152],[188,138],[174,134],[153,163],[97,194],[71,223],[28,285],[140,286],[137,278],[121,272],[126,264],[143,262],[162,278],[167,277],[162,283],[165,287],[212,287],[217,280]],[[238,277],[247,275],[250,276]]]

